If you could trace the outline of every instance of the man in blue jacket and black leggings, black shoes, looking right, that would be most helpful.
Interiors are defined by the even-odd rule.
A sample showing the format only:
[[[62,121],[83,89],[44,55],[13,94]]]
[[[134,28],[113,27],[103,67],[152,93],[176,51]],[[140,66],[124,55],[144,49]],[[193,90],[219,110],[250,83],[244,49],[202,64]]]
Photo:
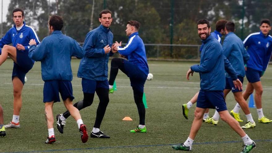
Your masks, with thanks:
[[[117,52],[113,47],[113,33],[109,28],[113,21],[112,12],[103,10],[99,14],[100,26],[87,33],[83,49],[86,54],[79,64],[78,77],[82,78],[83,100],[74,104],[79,110],[93,103],[95,92],[99,97],[96,111],[96,121],[91,132],[92,138],[110,138],[100,131],[106,108],[108,106],[108,58]],[[57,129],[63,133],[66,119],[70,116],[69,110],[56,116]]]

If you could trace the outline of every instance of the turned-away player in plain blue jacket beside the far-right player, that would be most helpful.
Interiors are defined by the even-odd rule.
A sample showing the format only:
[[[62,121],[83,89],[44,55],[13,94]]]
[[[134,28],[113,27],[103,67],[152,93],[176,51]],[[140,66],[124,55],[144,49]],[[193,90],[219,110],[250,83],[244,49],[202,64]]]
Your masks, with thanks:
[[[232,64],[233,68],[238,74],[238,79],[243,83],[245,70],[244,64],[249,60],[249,54],[244,49],[243,41],[236,36],[233,32],[235,30],[235,24],[233,22],[227,22],[225,25],[225,32],[226,37],[223,43],[223,54],[227,57],[229,62]],[[232,91],[235,100],[238,104],[240,104],[241,108],[243,109],[245,116],[247,117],[247,123],[242,126],[242,128],[249,129],[254,128],[256,126],[252,115],[249,111],[249,106],[247,102],[244,100],[242,95],[242,89],[235,89],[234,84],[232,83],[232,79],[228,74],[226,74],[226,87],[224,90],[224,98],[226,99],[227,94]],[[240,119],[239,113],[234,112],[232,110],[231,115],[237,120],[242,122],[243,120]],[[212,123],[214,125],[218,124],[219,114],[215,111],[215,115],[213,117],[207,118],[205,121],[206,123]]]

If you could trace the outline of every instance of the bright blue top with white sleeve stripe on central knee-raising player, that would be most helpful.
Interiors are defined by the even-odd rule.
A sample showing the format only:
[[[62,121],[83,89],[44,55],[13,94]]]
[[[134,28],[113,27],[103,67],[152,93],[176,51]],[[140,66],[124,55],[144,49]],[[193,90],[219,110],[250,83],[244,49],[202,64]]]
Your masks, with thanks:
[[[137,65],[146,75],[149,73],[146,50],[138,32],[134,32],[129,36],[125,47],[118,46],[118,52],[125,55],[129,62]]]

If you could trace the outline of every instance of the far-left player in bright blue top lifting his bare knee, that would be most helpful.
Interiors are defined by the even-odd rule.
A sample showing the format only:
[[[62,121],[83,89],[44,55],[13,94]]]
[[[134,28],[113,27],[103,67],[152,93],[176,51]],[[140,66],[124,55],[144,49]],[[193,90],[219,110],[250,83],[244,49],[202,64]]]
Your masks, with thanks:
[[[6,61],[7,56],[14,61],[12,70],[13,117],[9,124],[4,125],[5,128],[20,127],[19,117],[22,108],[21,95],[25,83],[24,78],[34,65],[34,61],[28,57],[28,43],[31,39],[35,39],[37,44],[40,42],[34,29],[23,22],[24,11],[22,9],[16,8],[13,10],[12,16],[15,25],[0,40],[0,48],[3,48],[0,55],[0,66]],[[13,46],[9,46],[11,43]]]

